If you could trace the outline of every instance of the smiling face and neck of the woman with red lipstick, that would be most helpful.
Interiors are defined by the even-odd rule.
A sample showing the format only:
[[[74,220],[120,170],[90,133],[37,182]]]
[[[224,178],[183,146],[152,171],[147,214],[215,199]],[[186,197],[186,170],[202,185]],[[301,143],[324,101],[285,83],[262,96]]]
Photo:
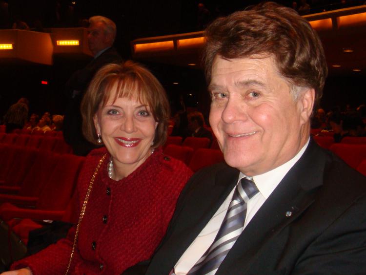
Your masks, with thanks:
[[[113,86],[106,105],[94,116],[94,125],[112,156],[115,179],[120,179],[132,173],[151,154],[158,123],[150,107],[139,100],[122,97],[113,102],[115,89]]]

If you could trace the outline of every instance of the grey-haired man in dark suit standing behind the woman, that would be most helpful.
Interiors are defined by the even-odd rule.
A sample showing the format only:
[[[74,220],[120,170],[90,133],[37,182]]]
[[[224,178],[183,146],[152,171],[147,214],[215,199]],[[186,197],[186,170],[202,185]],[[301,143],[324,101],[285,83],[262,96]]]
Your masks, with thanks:
[[[89,18],[88,46],[94,59],[83,69],[75,72],[66,83],[70,103],[65,111],[63,136],[77,155],[86,155],[94,148],[81,132],[80,103],[82,96],[95,73],[108,63],[120,63],[122,58],[113,47],[116,38],[116,24],[103,16]]]

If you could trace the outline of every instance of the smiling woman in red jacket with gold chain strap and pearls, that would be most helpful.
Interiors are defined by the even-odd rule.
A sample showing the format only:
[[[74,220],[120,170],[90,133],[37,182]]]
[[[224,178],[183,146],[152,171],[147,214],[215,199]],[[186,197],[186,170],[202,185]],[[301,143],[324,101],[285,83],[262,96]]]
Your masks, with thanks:
[[[93,150],[81,170],[79,222],[56,245],[14,263],[13,269],[26,267],[16,274],[121,274],[148,259],[192,173],[162,153],[169,105],[161,84],[141,65],[104,66],[81,113],[85,137],[105,148]]]

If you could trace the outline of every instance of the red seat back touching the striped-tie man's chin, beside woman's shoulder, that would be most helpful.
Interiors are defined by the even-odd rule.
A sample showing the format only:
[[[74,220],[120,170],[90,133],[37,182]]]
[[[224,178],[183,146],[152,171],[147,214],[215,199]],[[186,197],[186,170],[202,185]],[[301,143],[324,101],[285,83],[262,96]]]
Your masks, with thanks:
[[[193,172],[196,172],[203,167],[222,162],[223,160],[224,155],[221,150],[200,148],[193,153],[188,167],[192,169]]]

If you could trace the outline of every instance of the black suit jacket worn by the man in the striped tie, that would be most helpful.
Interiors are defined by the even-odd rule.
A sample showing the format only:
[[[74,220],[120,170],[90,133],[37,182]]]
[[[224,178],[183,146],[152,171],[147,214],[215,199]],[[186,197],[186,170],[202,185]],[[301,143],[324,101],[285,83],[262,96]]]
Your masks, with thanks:
[[[238,174],[219,164],[190,179],[146,274],[169,274]],[[311,141],[216,274],[366,274],[366,178]]]

